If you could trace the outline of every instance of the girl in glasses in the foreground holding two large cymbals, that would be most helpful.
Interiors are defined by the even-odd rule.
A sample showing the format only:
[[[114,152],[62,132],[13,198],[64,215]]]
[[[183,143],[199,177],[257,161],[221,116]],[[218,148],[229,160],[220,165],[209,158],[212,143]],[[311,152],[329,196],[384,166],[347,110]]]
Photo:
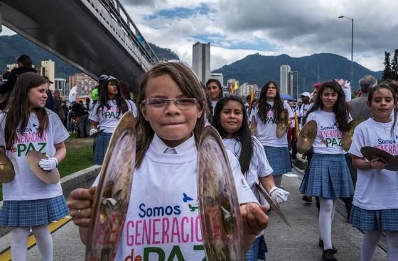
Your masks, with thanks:
[[[195,74],[181,62],[155,65],[144,74],[139,89],[137,132],[141,135],[133,192],[115,260],[203,260],[196,144],[204,126],[205,93]],[[267,227],[267,207],[253,203],[257,200],[240,172],[239,162],[230,152],[228,155],[248,250],[255,235]],[[95,187],[76,189],[68,201],[84,243],[94,192]],[[146,236],[148,230],[153,237]]]

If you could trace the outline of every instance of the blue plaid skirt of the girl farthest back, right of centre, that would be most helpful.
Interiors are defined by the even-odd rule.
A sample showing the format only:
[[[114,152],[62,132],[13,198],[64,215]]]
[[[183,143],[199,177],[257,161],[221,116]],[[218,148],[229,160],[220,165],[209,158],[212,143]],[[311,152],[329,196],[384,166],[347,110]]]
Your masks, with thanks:
[[[291,158],[288,147],[264,146],[265,155],[273,172],[272,175],[281,175],[291,172]]]

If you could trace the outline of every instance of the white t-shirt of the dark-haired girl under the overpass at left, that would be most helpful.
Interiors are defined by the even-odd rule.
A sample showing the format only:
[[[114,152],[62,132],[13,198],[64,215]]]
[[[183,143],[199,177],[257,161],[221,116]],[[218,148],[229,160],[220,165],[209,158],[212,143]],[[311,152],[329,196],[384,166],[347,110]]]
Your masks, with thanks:
[[[125,100],[127,102],[127,110],[133,111],[134,113],[134,103],[130,100]],[[104,130],[105,133],[113,133],[114,129],[119,123],[120,118],[122,118],[122,113],[117,111],[117,104],[114,100],[109,101],[110,108],[102,107],[97,113],[97,108],[99,106],[99,101],[95,104],[94,108],[90,111],[90,120],[99,123],[99,128]],[[136,113],[134,113],[136,116]]]

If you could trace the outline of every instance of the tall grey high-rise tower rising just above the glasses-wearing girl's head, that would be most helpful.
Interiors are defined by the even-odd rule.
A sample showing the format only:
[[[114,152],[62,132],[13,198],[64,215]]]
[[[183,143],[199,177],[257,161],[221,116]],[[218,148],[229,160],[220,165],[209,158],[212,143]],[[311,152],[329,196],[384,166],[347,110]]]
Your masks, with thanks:
[[[192,70],[203,84],[210,79],[210,43],[193,45]]]

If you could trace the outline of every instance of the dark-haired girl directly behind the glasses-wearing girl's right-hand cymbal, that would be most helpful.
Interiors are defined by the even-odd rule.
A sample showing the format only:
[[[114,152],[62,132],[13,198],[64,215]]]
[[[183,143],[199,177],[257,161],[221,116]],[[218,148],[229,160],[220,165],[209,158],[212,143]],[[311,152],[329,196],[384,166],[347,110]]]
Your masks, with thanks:
[[[289,192],[275,187],[272,168],[269,166],[262,144],[255,136],[250,135],[247,113],[242,99],[235,95],[222,97],[215,106],[212,125],[223,138],[225,147],[240,162],[240,168],[247,184],[259,200],[255,184],[261,182],[269,194],[280,204],[287,200]],[[252,247],[247,251],[247,261],[265,260],[267,246],[263,233],[257,235]]]

